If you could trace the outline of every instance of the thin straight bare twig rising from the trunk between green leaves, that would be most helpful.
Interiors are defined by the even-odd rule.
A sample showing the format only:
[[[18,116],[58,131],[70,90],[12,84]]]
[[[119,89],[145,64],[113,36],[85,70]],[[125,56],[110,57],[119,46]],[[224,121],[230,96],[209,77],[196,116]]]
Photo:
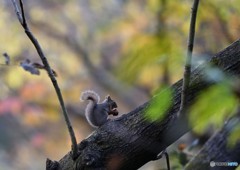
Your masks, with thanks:
[[[190,76],[191,76],[191,61],[192,61],[192,51],[193,51],[193,45],[194,45],[195,25],[196,25],[198,4],[199,4],[199,0],[194,0],[193,6],[192,6],[192,15],[191,15],[191,22],[190,22],[190,30],[189,30],[187,59],[185,63],[185,71],[183,76],[181,105],[180,105],[178,116],[182,115],[185,112],[185,106],[187,101],[186,98],[187,98],[187,90],[189,87]]]

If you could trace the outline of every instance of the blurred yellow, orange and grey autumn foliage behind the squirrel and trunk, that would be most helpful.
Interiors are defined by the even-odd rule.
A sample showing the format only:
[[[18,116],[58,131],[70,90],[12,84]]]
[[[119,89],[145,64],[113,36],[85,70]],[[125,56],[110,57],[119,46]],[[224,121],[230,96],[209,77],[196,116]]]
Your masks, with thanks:
[[[58,74],[78,142],[94,130],[84,118],[86,103],[79,102],[82,91],[111,95],[124,114],[182,77],[191,0],[23,2],[29,27]],[[0,11],[0,53],[10,56],[9,65],[0,57],[0,170],[44,169],[46,158],[59,160],[70,150],[70,138],[47,73],[20,67],[26,59],[41,61],[11,1],[0,1]],[[194,64],[239,38],[239,14],[238,0],[200,2]],[[157,161],[142,169],[159,167]]]

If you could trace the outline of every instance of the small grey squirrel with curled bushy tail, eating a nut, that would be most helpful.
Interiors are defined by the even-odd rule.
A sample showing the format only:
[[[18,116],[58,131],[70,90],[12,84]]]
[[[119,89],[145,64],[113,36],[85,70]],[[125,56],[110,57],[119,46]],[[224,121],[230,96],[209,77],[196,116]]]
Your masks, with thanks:
[[[93,127],[99,127],[106,123],[108,115],[118,115],[117,103],[109,95],[106,96],[102,103],[99,103],[99,95],[92,90],[87,90],[82,92],[80,100],[89,100],[85,109],[85,116],[88,123]]]

